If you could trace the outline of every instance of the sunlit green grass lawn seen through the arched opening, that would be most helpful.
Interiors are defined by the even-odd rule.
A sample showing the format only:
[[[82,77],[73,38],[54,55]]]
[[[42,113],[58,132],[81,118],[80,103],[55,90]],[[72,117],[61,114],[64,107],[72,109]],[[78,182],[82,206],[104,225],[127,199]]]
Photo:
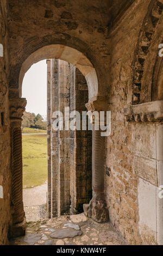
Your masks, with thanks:
[[[22,135],[23,188],[40,186],[47,180],[47,135]]]

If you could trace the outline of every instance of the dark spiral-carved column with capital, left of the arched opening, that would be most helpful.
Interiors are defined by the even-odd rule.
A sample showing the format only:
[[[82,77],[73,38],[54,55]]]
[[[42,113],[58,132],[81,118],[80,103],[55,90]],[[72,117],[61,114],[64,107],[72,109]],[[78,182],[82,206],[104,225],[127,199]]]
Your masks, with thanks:
[[[23,209],[22,186],[22,115],[26,107],[26,99],[10,99],[10,142],[12,173],[12,230],[11,236],[23,235],[26,231],[26,217]]]

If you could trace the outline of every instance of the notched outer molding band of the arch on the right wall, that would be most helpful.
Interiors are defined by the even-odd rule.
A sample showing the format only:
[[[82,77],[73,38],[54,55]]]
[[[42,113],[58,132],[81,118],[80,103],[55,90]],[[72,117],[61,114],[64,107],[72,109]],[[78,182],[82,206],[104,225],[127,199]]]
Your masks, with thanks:
[[[149,4],[149,13],[143,21],[142,28],[140,29],[139,39],[135,51],[134,60],[134,76],[133,76],[133,95],[132,103],[138,104],[141,102],[143,75],[145,71],[145,63],[148,60],[148,52],[151,47],[152,40],[156,31],[156,26],[162,17],[163,1],[151,1]]]

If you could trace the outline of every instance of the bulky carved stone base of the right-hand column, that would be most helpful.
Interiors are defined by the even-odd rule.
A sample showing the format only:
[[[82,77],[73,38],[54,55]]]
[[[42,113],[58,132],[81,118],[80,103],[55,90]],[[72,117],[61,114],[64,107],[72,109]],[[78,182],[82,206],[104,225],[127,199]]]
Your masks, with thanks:
[[[94,192],[89,204],[83,205],[84,214],[92,220],[102,223],[109,220],[109,211],[106,208],[104,193]]]

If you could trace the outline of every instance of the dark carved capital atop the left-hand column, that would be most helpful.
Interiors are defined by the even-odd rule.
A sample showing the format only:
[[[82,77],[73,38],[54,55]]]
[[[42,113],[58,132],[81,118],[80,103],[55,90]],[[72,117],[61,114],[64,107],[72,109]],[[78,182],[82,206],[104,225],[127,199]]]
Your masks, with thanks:
[[[25,98],[9,99],[10,121],[22,121],[23,112],[26,109],[27,100]]]

